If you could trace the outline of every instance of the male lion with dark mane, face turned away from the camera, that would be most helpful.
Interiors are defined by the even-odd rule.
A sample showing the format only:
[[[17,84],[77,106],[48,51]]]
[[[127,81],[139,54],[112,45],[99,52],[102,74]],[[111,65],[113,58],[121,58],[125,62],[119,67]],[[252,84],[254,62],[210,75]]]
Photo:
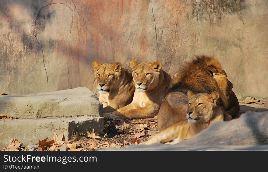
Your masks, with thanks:
[[[210,94],[217,91],[219,106],[226,112],[225,114],[229,114],[225,116],[225,121],[231,120],[230,117],[237,117],[240,107],[232,88],[233,84],[227,79],[226,72],[216,58],[196,56],[174,76],[172,86],[164,97],[158,113],[159,131],[186,120],[188,90],[196,94]]]

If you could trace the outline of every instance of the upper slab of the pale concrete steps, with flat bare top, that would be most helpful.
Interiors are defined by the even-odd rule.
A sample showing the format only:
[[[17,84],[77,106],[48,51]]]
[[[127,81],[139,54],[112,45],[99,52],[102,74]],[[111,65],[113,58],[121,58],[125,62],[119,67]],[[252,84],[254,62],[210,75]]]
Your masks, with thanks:
[[[97,95],[79,87],[48,93],[0,96],[0,114],[18,118],[100,117],[103,106]]]

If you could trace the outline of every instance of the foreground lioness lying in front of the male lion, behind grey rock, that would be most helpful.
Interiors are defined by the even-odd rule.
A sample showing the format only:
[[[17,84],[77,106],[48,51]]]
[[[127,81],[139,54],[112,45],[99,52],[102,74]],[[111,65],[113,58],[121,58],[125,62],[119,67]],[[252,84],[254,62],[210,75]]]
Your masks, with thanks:
[[[187,120],[177,122],[143,144],[167,143],[176,144],[198,134],[213,121],[224,121],[224,112],[217,105],[219,93],[194,94],[188,91],[188,109],[185,111]]]

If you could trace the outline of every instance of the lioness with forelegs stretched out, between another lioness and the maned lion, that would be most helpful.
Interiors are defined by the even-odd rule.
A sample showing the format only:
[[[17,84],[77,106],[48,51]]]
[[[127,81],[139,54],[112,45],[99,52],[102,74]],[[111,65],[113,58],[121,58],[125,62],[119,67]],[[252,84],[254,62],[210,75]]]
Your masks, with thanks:
[[[135,93],[131,104],[109,113],[110,119],[153,118],[157,115],[171,75],[163,71],[158,61],[149,63],[130,61]]]

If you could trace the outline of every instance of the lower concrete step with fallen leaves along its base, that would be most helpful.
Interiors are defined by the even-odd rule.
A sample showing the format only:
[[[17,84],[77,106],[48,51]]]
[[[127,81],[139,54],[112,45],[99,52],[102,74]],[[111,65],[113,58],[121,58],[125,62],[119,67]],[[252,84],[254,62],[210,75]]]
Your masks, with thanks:
[[[39,140],[52,137],[64,132],[66,140],[73,137],[73,131],[86,132],[94,129],[102,132],[104,118],[80,116],[74,118],[46,118],[46,119],[0,119],[0,147],[6,147],[12,138],[16,138],[23,145],[38,144]]]

